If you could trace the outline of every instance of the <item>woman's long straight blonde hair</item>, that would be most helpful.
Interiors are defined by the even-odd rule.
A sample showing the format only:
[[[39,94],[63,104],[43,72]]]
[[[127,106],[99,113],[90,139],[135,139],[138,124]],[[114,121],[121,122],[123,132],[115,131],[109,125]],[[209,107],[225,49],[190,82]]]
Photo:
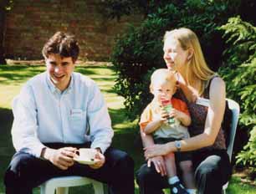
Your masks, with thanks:
[[[207,66],[196,33],[189,28],[177,28],[172,31],[166,31],[163,41],[165,42],[169,37],[176,39],[183,50],[192,48],[192,58],[189,59],[186,64],[184,79],[186,79],[187,83],[190,85],[192,85],[192,79],[200,79],[201,84],[198,93],[202,94],[207,81],[211,79],[215,73]]]

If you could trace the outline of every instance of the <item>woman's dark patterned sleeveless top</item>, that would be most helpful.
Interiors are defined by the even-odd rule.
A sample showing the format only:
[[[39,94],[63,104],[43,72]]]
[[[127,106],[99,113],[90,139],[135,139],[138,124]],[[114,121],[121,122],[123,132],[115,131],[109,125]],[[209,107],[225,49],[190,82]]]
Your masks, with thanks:
[[[215,77],[216,76],[212,77],[212,79]],[[203,93],[203,97],[205,99],[209,99],[209,87],[212,79],[209,80],[208,83],[206,84],[206,88]],[[204,131],[204,125],[207,118],[208,107],[203,105],[197,105],[196,102],[189,102],[185,94],[182,92],[182,89],[177,89],[177,95],[175,96],[187,103],[187,107],[192,119],[192,123],[188,127],[190,135],[195,136],[198,134],[202,134],[202,132]],[[221,128],[219,130],[217,138],[212,146],[208,146],[202,149],[226,149],[223,129]]]

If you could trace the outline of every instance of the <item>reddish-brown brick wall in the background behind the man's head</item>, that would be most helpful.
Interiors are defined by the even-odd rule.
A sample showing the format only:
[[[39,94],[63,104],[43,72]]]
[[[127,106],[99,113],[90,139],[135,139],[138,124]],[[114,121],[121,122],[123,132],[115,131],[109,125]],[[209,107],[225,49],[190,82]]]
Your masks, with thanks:
[[[80,59],[108,60],[115,36],[128,23],[139,24],[139,15],[119,22],[107,19],[100,0],[15,0],[6,20],[4,48],[9,59],[43,59],[44,43],[55,32],[74,33]]]

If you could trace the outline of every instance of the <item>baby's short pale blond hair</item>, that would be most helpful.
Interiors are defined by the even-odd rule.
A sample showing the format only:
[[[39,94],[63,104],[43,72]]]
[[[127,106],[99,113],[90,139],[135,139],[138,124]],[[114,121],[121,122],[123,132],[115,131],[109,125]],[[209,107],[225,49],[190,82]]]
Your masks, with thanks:
[[[172,87],[175,87],[177,79],[175,77],[174,72],[168,69],[156,69],[153,72],[153,74],[151,74],[151,84],[150,84],[151,92],[152,92],[152,89],[154,88],[154,85],[162,84],[165,82],[169,82],[170,84],[172,84]]]

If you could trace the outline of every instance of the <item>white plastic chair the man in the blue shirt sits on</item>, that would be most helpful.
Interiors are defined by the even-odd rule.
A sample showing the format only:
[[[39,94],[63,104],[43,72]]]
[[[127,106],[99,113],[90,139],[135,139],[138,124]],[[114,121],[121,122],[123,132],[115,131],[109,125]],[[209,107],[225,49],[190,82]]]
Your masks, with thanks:
[[[100,181],[82,176],[60,176],[45,181],[40,187],[40,194],[68,194],[69,186],[83,186],[92,184],[95,194],[104,194],[104,187]]]

